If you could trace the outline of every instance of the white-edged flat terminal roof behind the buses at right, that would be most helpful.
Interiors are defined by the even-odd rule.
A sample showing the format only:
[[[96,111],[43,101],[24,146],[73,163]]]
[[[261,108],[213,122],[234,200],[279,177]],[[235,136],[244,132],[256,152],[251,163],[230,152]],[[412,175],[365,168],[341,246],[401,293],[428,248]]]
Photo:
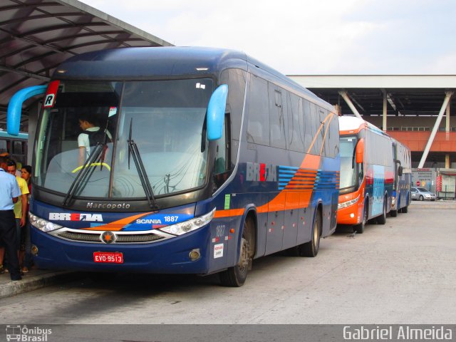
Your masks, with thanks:
[[[456,90],[455,75],[313,75],[290,76],[332,105],[341,106],[342,115],[352,115],[340,95],[348,98],[361,115],[383,115],[383,97],[388,100],[388,115],[436,116],[447,91]],[[450,107],[456,108],[452,95]],[[451,115],[455,115],[452,109]]]

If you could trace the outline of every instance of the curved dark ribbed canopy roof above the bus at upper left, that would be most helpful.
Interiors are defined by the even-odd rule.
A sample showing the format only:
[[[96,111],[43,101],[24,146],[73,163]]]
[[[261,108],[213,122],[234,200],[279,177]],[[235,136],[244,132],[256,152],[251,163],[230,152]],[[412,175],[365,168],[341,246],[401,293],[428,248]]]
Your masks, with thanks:
[[[67,58],[129,46],[172,46],[150,33],[76,0],[0,1],[0,128],[14,93],[46,84]],[[22,122],[28,120],[23,107]],[[23,127],[21,127],[23,130]]]

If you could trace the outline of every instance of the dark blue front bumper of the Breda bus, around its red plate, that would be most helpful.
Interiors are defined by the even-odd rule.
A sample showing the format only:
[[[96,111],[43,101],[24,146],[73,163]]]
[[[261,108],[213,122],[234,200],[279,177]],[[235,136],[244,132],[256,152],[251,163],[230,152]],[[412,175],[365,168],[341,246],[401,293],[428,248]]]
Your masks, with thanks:
[[[93,244],[70,242],[31,227],[31,242],[38,248],[33,257],[39,268],[80,271],[122,271],[162,274],[209,273],[209,225],[195,232],[150,244]],[[191,261],[192,249],[201,257]],[[121,252],[123,264],[97,263],[94,252]]]

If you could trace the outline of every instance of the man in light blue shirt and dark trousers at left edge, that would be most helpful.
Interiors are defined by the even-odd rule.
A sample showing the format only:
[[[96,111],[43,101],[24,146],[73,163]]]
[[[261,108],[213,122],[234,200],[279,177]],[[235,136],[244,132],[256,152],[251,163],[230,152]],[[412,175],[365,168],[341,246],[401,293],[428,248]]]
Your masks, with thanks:
[[[19,190],[16,177],[5,171],[7,168],[6,157],[0,157],[0,242],[6,249],[11,280],[21,280],[16,251],[16,220],[13,210],[14,203],[21,196],[21,190]]]

